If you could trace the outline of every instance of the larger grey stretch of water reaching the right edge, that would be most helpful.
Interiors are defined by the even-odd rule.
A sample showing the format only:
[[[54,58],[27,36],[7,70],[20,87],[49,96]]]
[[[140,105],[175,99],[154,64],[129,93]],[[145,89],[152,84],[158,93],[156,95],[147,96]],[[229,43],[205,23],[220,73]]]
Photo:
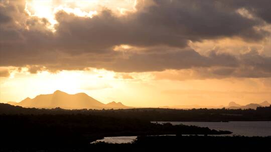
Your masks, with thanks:
[[[232,135],[244,136],[271,136],[271,121],[229,121],[229,122],[182,122],[182,121],[158,121],[158,123],[170,122],[173,125],[185,124],[209,127],[216,130],[229,130]]]

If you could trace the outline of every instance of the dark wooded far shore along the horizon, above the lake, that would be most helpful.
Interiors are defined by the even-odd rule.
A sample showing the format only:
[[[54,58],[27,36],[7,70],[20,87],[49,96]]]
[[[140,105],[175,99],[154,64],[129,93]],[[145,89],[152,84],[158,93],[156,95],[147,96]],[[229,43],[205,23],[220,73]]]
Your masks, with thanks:
[[[0,113],[5,114],[91,114],[115,118],[137,118],[149,121],[266,121],[271,120],[271,106],[257,109],[167,109],[167,108],[131,108],[131,109],[39,109],[24,108],[0,103]]]

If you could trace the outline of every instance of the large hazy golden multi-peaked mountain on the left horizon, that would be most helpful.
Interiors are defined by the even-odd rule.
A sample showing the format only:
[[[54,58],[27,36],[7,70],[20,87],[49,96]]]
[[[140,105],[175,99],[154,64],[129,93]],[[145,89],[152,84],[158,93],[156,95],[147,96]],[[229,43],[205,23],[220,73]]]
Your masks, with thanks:
[[[129,108],[118,102],[110,102],[104,104],[86,93],[68,94],[60,90],[56,90],[53,94],[40,94],[35,98],[25,98],[19,103],[9,102],[9,104],[20,105],[23,107],[37,107],[37,108],[55,108],[61,107],[66,109],[109,109],[109,108]]]

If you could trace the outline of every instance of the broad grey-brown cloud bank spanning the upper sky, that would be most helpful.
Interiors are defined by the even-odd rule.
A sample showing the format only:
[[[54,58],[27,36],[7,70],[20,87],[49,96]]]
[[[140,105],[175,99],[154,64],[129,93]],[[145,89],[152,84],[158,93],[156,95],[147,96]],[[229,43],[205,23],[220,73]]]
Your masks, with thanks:
[[[117,16],[104,9],[92,18],[59,11],[53,33],[46,27],[48,20],[29,17],[24,12],[24,2],[11,1],[0,5],[0,63],[1,66],[28,66],[32,73],[86,67],[121,72],[216,67],[209,72],[266,77],[271,73],[270,57],[258,53],[233,56],[215,51],[203,56],[188,48],[190,40],[240,37],[257,41],[268,36],[267,31],[254,28],[270,22],[267,15],[270,9],[263,6],[269,1],[261,3],[161,0],[152,5],[139,2],[138,11],[127,15]],[[238,8],[246,8],[257,18],[242,16],[236,11]],[[120,44],[145,48],[145,51],[114,51],[114,46]]]

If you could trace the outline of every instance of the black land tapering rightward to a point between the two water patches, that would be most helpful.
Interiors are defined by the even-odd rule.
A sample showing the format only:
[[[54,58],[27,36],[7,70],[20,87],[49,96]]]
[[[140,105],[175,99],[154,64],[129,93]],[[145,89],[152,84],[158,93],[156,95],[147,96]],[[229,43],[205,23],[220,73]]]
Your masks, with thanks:
[[[0,114],[2,146],[88,145],[104,136],[229,134],[208,127],[158,124],[87,114]]]

